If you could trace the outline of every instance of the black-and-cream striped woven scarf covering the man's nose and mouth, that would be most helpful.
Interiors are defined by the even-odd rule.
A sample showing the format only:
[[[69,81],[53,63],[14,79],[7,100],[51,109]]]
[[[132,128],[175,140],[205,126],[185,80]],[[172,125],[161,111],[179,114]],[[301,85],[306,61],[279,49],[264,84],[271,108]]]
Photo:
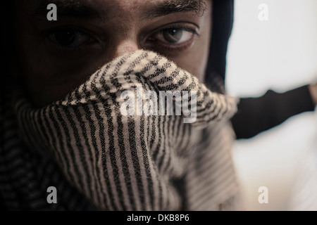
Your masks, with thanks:
[[[185,112],[123,115],[128,98],[122,94],[139,90],[196,93],[188,103],[175,103],[192,106],[194,120],[185,122]],[[228,120],[236,105],[236,98],[212,92],[167,58],[142,50],[107,63],[44,108],[33,108],[22,93],[13,96],[27,147],[49,155],[66,184],[98,210],[231,210],[238,187]]]

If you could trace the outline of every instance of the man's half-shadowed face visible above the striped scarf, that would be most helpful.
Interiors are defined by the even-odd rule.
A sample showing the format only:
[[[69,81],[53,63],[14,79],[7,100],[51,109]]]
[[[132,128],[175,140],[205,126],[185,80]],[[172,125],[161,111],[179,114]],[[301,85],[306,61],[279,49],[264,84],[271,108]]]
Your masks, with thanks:
[[[56,21],[46,18],[51,3]],[[63,98],[102,65],[137,49],[156,51],[204,79],[211,1],[18,0],[17,16],[20,76],[37,106]]]

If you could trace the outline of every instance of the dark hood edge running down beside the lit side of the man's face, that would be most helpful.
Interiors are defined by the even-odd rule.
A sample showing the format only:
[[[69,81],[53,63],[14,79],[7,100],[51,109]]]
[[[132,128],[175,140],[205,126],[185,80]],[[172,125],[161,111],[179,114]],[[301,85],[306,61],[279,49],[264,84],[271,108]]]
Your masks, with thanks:
[[[212,34],[206,84],[211,88],[225,81],[228,41],[233,24],[233,0],[213,0]],[[220,78],[220,79],[219,79]]]

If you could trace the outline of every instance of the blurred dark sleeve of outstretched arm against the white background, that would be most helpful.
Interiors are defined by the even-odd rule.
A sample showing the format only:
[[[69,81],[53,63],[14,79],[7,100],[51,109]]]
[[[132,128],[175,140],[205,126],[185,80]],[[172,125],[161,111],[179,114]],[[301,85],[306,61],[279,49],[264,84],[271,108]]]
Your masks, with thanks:
[[[249,139],[293,115],[313,111],[314,108],[308,86],[282,94],[269,90],[259,98],[241,98],[238,112],[232,117],[232,125],[237,139]]]

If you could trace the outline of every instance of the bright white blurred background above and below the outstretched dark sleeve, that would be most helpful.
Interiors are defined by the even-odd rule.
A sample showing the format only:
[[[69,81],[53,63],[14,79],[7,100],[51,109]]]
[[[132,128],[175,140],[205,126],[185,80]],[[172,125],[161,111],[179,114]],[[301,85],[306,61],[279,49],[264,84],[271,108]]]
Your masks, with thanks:
[[[268,20],[260,21],[260,4]],[[317,81],[317,0],[235,0],[226,88],[240,97]],[[233,149],[247,210],[317,210],[317,115],[302,113]],[[258,189],[268,187],[268,204]]]

